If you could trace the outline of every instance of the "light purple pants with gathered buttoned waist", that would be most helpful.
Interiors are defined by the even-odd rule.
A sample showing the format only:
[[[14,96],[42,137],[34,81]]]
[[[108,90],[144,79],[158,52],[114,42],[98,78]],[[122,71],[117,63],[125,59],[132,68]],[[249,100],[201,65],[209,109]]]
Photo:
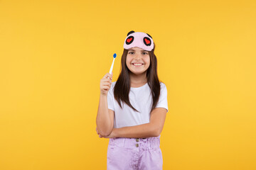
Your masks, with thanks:
[[[160,136],[148,138],[110,138],[107,170],[160,170],[163,157]]]

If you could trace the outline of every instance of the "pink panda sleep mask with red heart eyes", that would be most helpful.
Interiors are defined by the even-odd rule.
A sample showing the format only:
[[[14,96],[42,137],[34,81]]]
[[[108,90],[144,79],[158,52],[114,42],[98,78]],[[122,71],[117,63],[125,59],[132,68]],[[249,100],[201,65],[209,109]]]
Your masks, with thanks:
[[[132,47],[140,47],[143,50],[151,51],[154,48],[154,41],[149,34],[132,30],[124,40],[124,49],[129,50]]]

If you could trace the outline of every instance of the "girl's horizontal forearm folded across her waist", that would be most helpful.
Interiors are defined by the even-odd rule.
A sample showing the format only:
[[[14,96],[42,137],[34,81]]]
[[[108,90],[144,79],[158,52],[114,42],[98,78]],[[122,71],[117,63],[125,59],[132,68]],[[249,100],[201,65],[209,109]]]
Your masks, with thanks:
[[[151,123],[113,129],[114,137],[158,137],[159,130]]]

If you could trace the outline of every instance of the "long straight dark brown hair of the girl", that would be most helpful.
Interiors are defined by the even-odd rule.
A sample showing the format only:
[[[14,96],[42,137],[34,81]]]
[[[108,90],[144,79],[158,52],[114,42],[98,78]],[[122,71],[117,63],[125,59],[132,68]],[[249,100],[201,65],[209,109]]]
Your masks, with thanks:
[[[159,78],[157,76],[157,60],[156,60],[156,55],[154,55],[154,49],[155,49],[155,45],[154,45],[154,48],[151,51],[149,51],[150,64],[149,64],[149,68],[146,70],[146,79],[151,89],[151,96],[153,99],[151,111],[153,111],[153,109],[156,107],[157,102],[159,101],[160,89],[161,89]],[[122,54],[122,59],[121,59],[122,70],[121,70],[121,73],[119,74],[116,84],[114,85],[114,98],[117,100],[121,108],[122,108],[121,101],[123,101],[134,111],[137,111],[129,102],[129,91],[131,88],[131,81],[129,78],[130,71],[126,64],[127,53],[128,53],[128,50],[124,49],[124,52]]]

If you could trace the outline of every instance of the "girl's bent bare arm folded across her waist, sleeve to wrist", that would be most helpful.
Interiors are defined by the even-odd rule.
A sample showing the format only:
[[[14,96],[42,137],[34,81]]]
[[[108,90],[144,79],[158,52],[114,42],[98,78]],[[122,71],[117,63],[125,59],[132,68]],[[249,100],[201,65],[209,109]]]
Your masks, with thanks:
[[[150,122],[142,125],[129,126],[124,128],[114,128],[114,137],[158,137],[164,128],[166,118],[166,108],[154,108],[150,115]]]

